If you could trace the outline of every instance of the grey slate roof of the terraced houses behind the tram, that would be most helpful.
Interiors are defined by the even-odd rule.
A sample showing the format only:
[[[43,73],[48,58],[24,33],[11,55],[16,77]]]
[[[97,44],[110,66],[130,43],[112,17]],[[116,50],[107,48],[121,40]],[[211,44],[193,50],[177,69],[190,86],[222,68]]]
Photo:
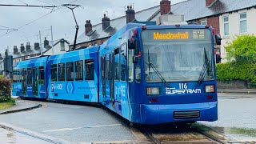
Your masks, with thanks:
[[[172,5],[170,14],[183,14],[185,21],[191,21],[198,18],[228,13],[234,10],[242,10],[252,6],[256,6],[256,0],[217,0],[210,7],[206,7],[206,0],[187,0]],[[156,21],[159,16],[160,6],[154,6],[135,13],[136,20],[141,22]],[[126,16],[110,20],[110,30],[102,31],[102,23],[99,23],[93,26],[92,33],[87,35],[82,33],[78,37],[77,43],[110,37],[125,25]]]

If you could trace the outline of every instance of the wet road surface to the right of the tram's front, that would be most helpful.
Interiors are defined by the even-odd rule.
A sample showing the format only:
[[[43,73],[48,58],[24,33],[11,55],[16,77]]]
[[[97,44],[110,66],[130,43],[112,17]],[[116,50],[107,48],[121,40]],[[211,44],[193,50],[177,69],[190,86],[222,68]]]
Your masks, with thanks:
[[[218,94],[218,121],[200,123],[234,140],[256,143],[256,94]]]

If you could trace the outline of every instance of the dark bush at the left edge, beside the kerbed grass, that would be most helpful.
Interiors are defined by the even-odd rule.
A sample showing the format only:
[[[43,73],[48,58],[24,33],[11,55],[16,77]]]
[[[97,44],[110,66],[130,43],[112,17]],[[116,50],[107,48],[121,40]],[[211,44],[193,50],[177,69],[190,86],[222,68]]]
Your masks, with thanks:
[[[0,102],[13,102],[11,98],[11,81],[0,78]]]

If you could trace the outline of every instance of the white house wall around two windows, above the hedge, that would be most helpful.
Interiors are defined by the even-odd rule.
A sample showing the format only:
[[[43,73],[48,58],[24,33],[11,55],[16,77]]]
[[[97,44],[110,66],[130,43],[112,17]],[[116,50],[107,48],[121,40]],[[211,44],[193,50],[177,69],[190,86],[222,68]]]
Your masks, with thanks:
[[[247,13],[247,33],[244,34],[256,34],[256,9],[251,8],[250,10],[238,10],[238,12],[233,12],[232,14],[222,14],[219,17],[220,22],[220,34],[222,35],[222,46],[221,46],[221,56],[222,62],[226,62],[226,50],[225,46],[228,42],[232,42],[235,35],[240,34],[240,26],[239,26],[239,14]],[[229,16],[229,35],[224,36],[224,20],[223,18]]]

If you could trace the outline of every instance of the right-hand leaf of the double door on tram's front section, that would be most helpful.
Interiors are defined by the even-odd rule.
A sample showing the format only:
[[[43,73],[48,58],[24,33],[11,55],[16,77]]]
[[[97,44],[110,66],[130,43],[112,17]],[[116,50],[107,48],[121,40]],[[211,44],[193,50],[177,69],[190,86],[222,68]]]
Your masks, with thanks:
[[[114,53],[110,54],[110,102],[114,105]]]

